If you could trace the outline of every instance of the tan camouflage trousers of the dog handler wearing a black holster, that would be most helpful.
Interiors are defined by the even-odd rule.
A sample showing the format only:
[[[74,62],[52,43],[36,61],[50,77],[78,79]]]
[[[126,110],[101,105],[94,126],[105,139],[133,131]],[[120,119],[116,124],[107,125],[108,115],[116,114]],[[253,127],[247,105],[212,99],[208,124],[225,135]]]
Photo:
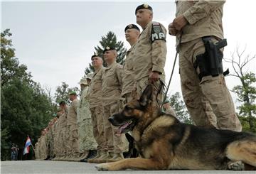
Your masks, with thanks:
[[[213,39],[213,42],[216,42]],[[201,38],[182,43],[178,50],[183,99],[194,123],[198,126],[241,131],[235,107],[223,75],[198,79],[199,70],[193,63],[196,55],[205,52]]]

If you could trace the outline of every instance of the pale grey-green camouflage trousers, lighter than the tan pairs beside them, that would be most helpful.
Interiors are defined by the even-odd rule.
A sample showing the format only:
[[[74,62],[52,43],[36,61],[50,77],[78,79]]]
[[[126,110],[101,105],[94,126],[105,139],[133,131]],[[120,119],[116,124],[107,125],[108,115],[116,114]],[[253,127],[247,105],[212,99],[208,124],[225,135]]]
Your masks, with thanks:
[[[80,152],[95,150],[97,143],[92,132],[92,119],[84,119],[78,123],[78,137]]]

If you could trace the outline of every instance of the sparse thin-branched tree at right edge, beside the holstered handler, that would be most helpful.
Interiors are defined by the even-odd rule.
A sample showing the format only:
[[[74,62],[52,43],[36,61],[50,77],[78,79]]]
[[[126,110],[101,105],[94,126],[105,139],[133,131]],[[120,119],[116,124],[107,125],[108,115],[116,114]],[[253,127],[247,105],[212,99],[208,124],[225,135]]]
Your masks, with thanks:
[[[232,64],[234,72],[230,74],[230,76],[240,80],[240,85],[233,87],[232,92],[238,95],[238,101],[241,103],[240,106],[238,106],[240,110],[238,115],[242,129],[244,131],[256,132],[256,77],[255,73],[245,70],[249,62],[255,58],[255,55],[250,56],[244,54],[245,49],[240,52],[239,48],[236,48],[231,58],[225,59],[225,61]]]

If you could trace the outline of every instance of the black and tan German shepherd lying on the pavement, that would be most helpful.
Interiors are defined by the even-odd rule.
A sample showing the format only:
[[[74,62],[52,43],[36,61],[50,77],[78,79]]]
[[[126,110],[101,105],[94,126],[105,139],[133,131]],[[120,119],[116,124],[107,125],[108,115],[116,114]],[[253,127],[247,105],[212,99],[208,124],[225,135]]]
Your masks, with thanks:
[[[127,103],[109,119],[122,133],[132,130],[141,158],[102,163],[97,170],[241,170],[242,164],[255,169],[255,135],[182,124],[154,109],[151,94],[149,85],[139,100]]]

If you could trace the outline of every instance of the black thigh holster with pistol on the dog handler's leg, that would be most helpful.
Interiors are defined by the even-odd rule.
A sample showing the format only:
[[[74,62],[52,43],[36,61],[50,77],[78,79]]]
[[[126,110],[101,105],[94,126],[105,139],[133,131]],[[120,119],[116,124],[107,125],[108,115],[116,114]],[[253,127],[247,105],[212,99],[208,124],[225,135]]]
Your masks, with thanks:
[[[227,40],[223,39],[218,41],[218,43],[213,43],[211,36],[205,36],[202,38],[206,52],[201,55],[196,55],[196,61],[194,62],[195,70],[199,67],[199,80],[201,81],[203,77],[212,75],[216,77],[220,74],[228,75],[229,70],[223,72],[223,52],[221,48],[227,45]]]

